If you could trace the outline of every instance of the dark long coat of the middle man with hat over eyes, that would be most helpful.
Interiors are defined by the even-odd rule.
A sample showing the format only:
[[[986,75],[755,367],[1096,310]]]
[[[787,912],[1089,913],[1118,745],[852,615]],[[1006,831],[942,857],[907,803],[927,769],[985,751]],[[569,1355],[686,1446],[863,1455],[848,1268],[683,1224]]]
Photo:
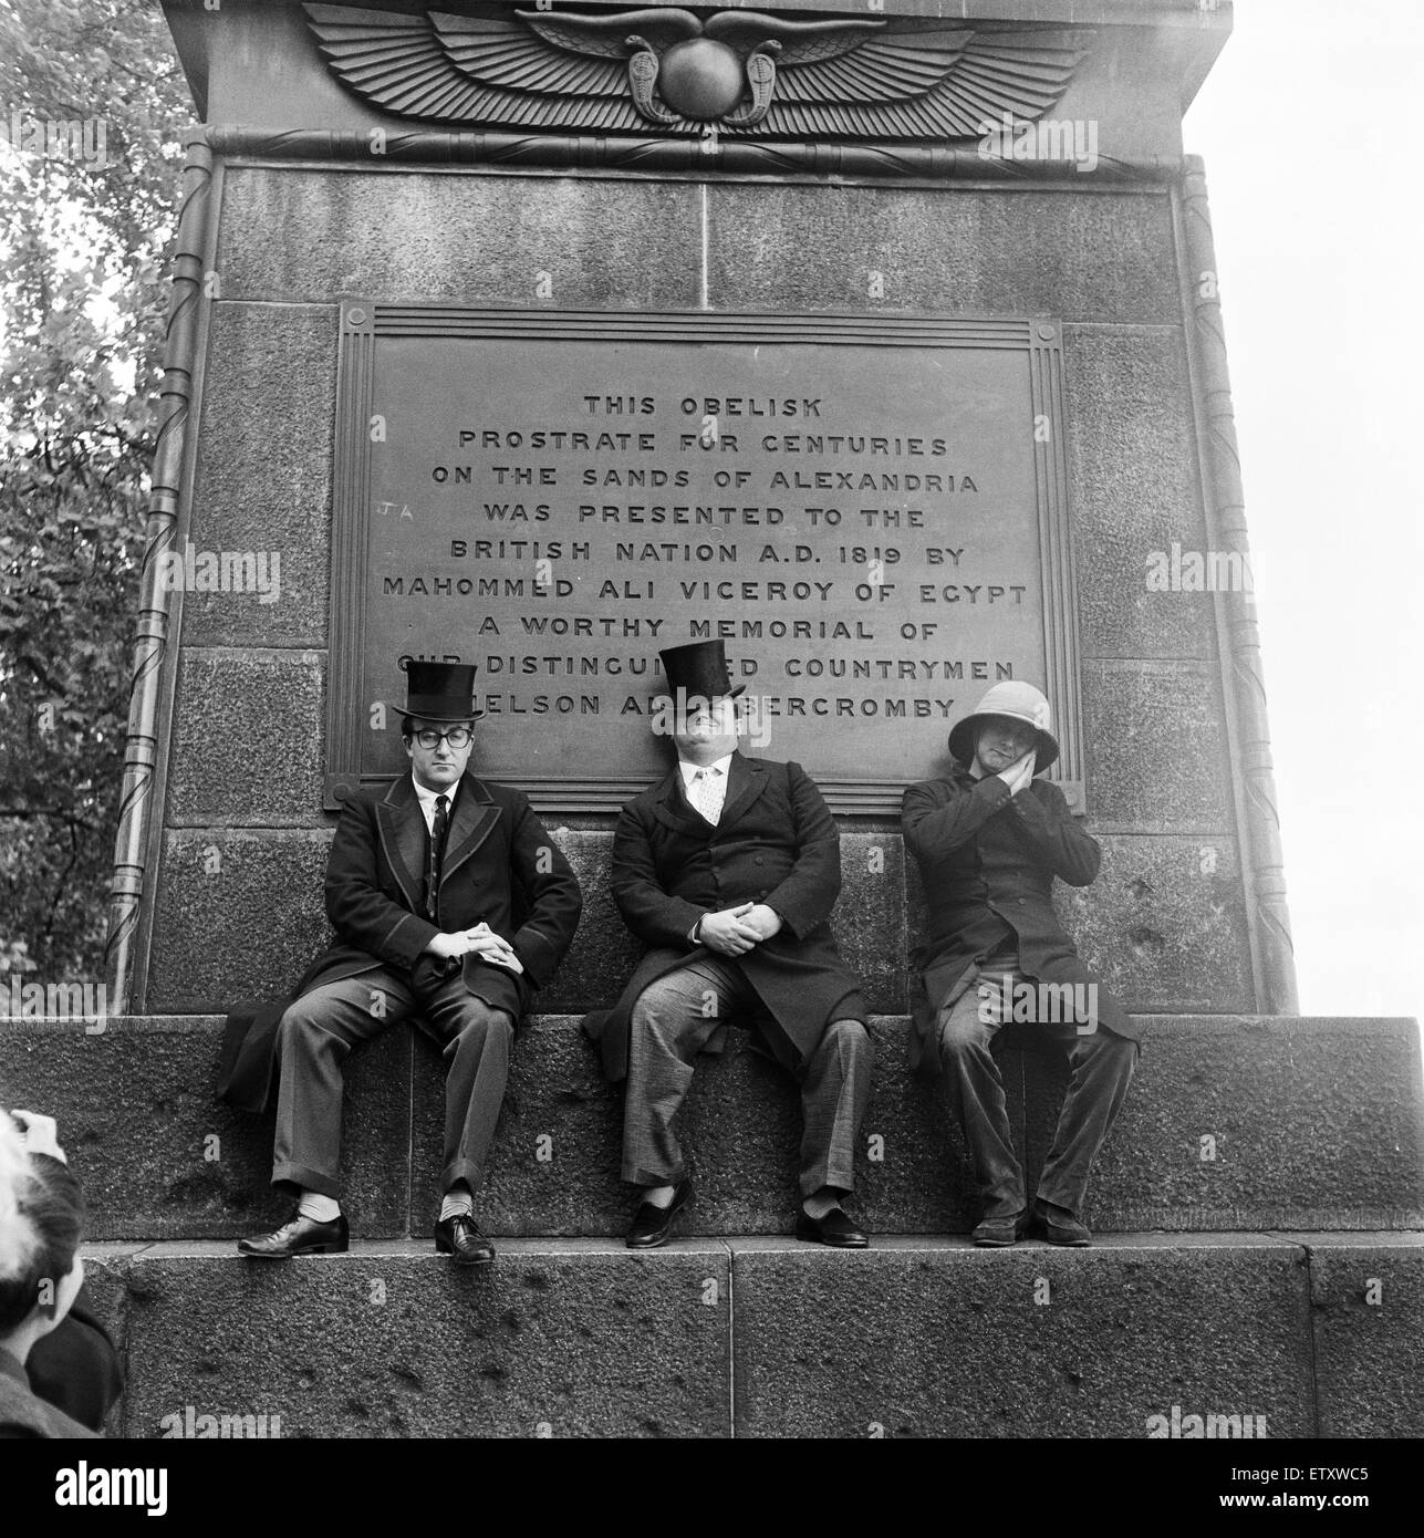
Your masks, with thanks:
[[[618,1003],[583,1023],[607,1078],[627,1074],[629,1020],[643,989],[707,955],[687,938],[692,926],[740,903],[767,903],[783,918],[738,964],[803,1060],[832,1020],[864,1020],[860,984],[827,923],[840,889],[840,832],[800,764],[734,754],[717,827],[687,804],[674,764],[623,807],[614,829],[614,901],[647,950]]]

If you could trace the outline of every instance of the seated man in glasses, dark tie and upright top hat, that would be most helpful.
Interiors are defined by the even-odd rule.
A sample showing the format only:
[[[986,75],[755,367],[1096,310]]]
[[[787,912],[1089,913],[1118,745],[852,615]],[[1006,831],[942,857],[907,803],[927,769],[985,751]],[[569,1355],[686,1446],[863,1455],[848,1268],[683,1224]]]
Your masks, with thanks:
[[[228,1098],[252,1109],[266,1097],[275,1047],[272,1184],[297,1195],[291,1221],[238,1243],[245,1255],[346,1249],[341,1064],[354,1046],[415,1015],[446,1061],[435,1244],[458,1264],[494,1260],[474,1197],[515,1024],[567,950],[581,898],[526,797],[466,772],[483,715],[472,703],[474,675],[467,664],[409,664],[401,740],[411,772],[349,795],[331,846],[326,914],[335,943],[298,984],[266,1054],[260,1018],[229,1043]],[[234,1084],[245,1077],[246,1086]]]

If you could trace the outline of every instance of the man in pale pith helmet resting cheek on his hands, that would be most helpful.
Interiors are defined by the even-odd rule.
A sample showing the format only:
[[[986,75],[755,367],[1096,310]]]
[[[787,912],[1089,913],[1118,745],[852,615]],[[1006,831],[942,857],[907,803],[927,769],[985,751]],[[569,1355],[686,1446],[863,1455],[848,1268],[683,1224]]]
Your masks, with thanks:
[[[1058,743],[1049,701],[1032,684],[995,684],[953,726],[949,751],[949,774],[910,786],[901,807],[929,910],[913,955],[924,994],[912,1061],[949,1081],[983,1200],[975,1244],[1009,1246],[1033,1230],[1052,1244],[1087,1244],[1089,1173],[1123,1109],[1138,1044],[1058,923],[1052,887],[1055,877],[1089,886],[1101,854],[1063,791],[1035,778]],[[1010,1015],[1029,1024],[1030,1040],[1064,1049],[1070,1067],[1032,1207],[992,1052]]]

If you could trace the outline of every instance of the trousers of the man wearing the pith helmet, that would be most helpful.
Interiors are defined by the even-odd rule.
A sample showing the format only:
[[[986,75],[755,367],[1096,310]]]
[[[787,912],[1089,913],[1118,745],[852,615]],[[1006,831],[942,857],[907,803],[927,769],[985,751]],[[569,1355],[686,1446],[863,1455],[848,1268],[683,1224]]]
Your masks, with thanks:
[[[1016,1217],[1027,1206],[1024,1172],[1004,1107],[1004,1081],[990,1050],[1007,1024],[1000,1018],[1004,980],[1009,990],[1024,980],[1016,957],[983,963],[969,987],[940,1014],[940,1061],[969,1143],[986,1218]],[[1081,1220],[1093,1161],[1127,1098],[1138,1046],[1100,1026],[1066,1049],[1069,1086],[1038,1178],[1038,1198]]]

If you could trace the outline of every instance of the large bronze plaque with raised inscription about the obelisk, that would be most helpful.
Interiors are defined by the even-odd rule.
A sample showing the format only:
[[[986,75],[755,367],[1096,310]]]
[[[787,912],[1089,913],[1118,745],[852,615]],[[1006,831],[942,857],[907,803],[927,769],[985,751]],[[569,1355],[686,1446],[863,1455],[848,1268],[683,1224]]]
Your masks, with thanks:
[[[343,306],[328,798],[401,772],[401,667],[546,811],[661,774],[658,651],[721,637],[746,751],[898,811],[992,683],[1081,807],[1060,328]]]

